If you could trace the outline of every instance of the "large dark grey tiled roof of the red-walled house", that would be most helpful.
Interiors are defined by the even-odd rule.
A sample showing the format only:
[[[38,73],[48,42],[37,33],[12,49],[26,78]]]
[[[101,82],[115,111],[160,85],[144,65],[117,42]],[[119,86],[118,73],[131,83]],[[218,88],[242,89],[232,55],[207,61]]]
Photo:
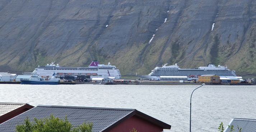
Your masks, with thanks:
[[[0,124],[0,132],[14,132],[17,124],[23,123],[28,117],[31,121],[34,118],[45,118],[53,114],[55,117],[64,118],[67,115],[68,120],[74,126],[82,124],[84,121],[93,123],[93,132],[105,132],[116,124],[133,115],[147,119],[164,129],[170,129],[171,126],[163,123],[149,115],[139,112],[136,109],[113,109],[113,108],[91,108],[91,107],[66,107],[66,106],[47,106],[38,105],[27,112],[24,112],[9,121]]]

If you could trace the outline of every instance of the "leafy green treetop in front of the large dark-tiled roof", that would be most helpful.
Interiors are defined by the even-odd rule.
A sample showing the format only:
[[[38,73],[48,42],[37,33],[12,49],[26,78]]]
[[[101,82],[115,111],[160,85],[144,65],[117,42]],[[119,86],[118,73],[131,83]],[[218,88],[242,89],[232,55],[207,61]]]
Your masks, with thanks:
[[[24,123],[16,126],[16,132],[92,132],[93,124],[83,122],[78,127],[74,127],[65,116],[64,119],[50,117],[37,119],[34,122],[24,119]]]

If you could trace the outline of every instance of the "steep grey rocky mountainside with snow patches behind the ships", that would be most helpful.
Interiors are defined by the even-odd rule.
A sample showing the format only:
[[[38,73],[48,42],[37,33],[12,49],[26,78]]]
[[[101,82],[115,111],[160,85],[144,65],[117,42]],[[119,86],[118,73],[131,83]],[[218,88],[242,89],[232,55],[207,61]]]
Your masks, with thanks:
[[[253,0],[1,0],[0,70],[97,59],[122,75],[163,63],[255,75],[255,14]]]

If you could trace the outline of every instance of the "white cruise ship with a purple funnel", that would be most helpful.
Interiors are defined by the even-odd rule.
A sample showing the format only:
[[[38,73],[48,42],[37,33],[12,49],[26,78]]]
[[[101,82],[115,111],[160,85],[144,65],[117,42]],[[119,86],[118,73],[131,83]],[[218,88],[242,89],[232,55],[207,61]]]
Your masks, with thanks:
[[[46,66],[38,66],[33,72],[39,76],[52,76],[54,73],[56,76],[90,76],[90,78],[105,78],[115,77],[115,79],[121,78],[121,73],[116,66],[112,66],[110,62],[108,65],[99,64],[97,60],[93,60],[89,67],[64,67],[55,65],[54,62],[47,64]]]

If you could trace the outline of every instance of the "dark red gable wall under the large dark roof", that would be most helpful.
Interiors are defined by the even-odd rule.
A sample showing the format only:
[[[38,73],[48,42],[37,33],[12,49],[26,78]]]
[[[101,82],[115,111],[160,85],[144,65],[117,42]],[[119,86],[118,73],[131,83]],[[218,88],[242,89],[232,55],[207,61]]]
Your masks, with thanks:
[[[132,128],[135,128],[138,132],[162,132],[163,128],[156,126],[148,121],[145,121],[136,116],[132,116],[129,119],[117,124],[109,132],[130,132]]]

